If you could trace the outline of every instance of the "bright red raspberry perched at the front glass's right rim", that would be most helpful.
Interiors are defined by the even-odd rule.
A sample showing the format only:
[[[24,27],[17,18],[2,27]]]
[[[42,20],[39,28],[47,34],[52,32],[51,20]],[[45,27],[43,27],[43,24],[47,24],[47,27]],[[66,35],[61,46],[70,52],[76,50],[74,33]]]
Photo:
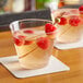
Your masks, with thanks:
[[[56,28],[52,24],[50,24],[50,23],[47,23],[47,24],[45,25],[45,32],[46,32],[46,34],[48,34],[48,35],[52,35],[56,29],[57,29],[57,28]]]

